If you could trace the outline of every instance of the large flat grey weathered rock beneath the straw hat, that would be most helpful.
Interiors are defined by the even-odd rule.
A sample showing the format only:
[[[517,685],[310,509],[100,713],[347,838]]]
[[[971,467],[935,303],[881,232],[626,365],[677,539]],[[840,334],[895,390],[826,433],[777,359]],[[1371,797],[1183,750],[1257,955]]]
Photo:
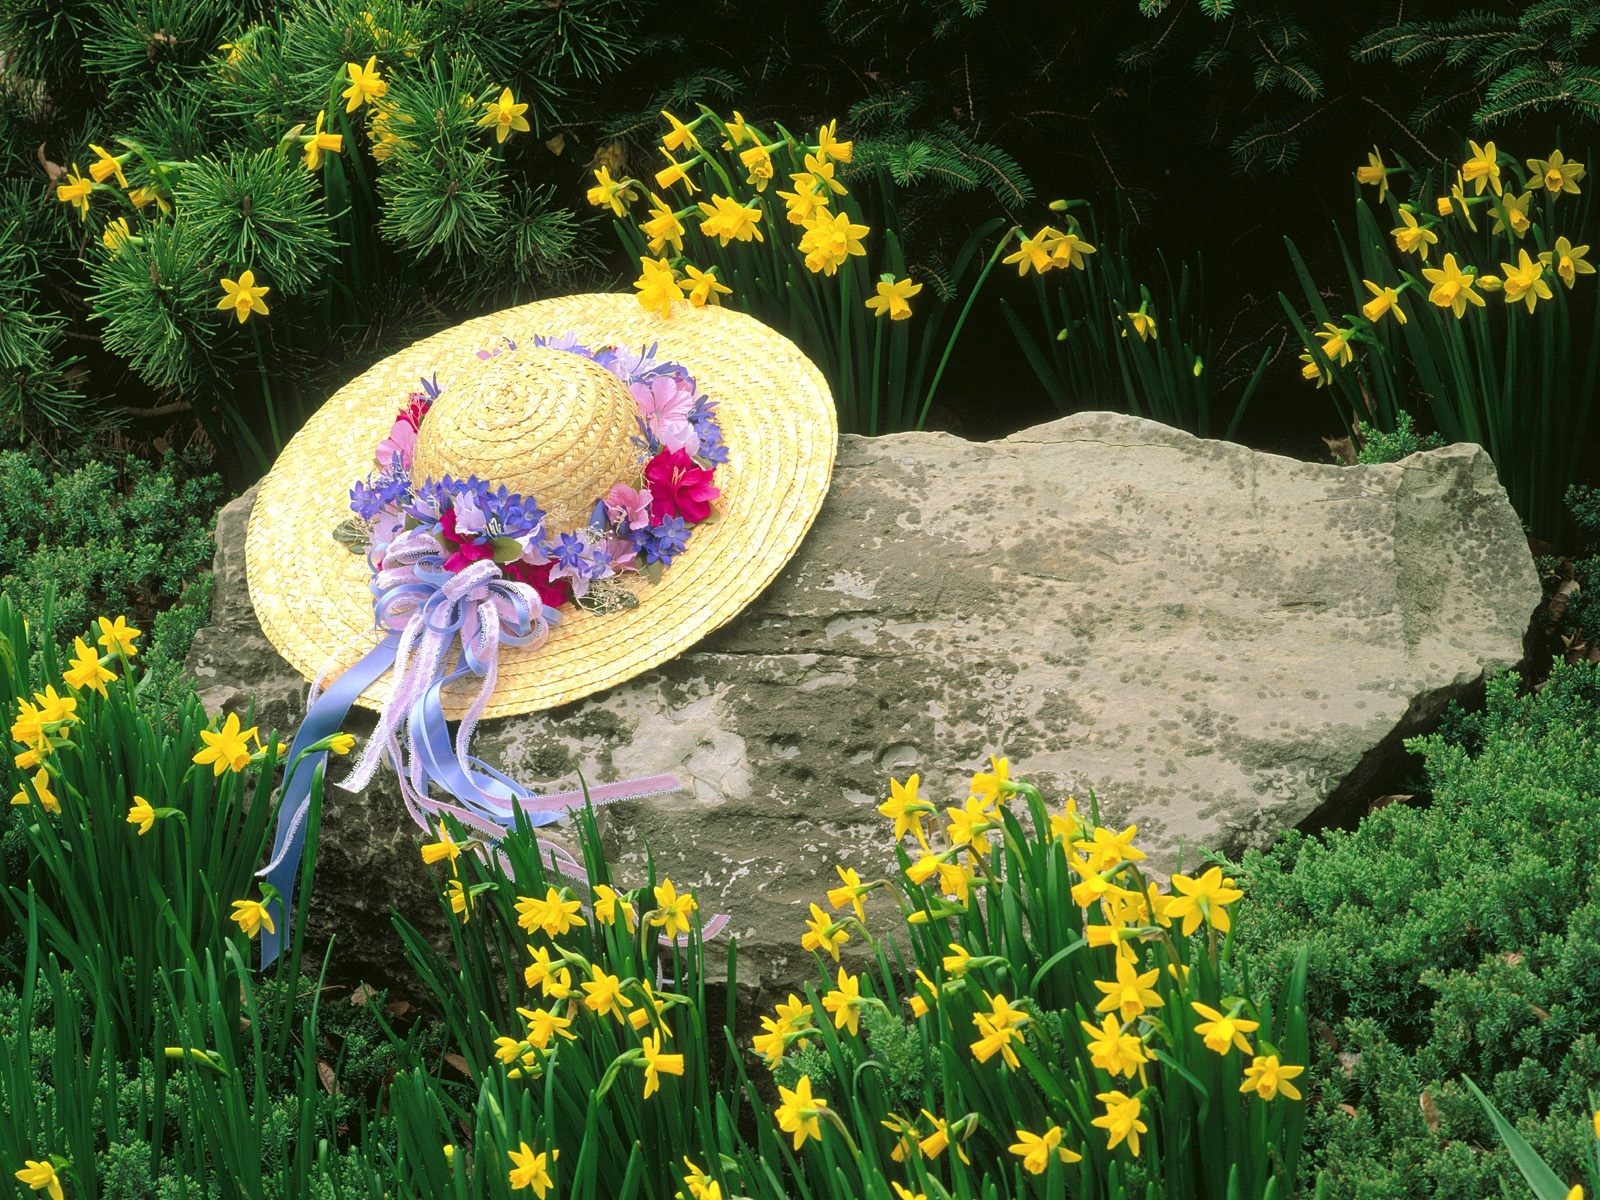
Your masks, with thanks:
[[[208,707],[253,698],[288,728],[304,682],[250,606],[251,501],[219,520],[189,667]],[[526,782],[675,773],[682,794],[606,810],[622,878],[648,843],[731,914],[741,981],[784,982],[810,970],[805,906],[834,864],[891,861],[891,773],[957,802],[1003,752],[1046,795],[1093,789],[1160,866],[1238,851],[1360,797],[1402,738],[1520,661],[1538,602],[1477,446],[1338,467],[1109,413],[986,445],[845,437],[814,530],[741,618],[475,746]],[[330,794],[310,920],[341,973],[398,962],[389,906],[434,914],[416,845],[384,776]]]

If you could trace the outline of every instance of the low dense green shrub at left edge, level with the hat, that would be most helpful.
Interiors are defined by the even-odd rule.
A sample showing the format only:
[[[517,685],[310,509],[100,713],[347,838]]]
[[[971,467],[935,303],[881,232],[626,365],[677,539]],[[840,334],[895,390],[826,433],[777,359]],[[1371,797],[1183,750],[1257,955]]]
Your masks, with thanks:
[[[194,456],[168,451],[158,466],[128,456],[56,474],[30,454],[0,451],[0,586],[24,598],[32,621],[53,592],[64,630],[126,614],[146,630],[152,686],[170,694],[210,613],[219,499],[221,480]]]

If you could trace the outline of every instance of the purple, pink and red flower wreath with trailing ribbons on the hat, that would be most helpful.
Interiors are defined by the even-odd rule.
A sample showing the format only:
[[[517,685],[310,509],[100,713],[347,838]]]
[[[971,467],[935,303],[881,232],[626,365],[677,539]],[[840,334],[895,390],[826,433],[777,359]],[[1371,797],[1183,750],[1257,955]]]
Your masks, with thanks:
[[[443,394],[437,374],[406,397],[373,453],[373,472],[350,488],[354,518],[334,530],[334,538],[366,554],[374,621],[384,640],[328,690],[322,688],[326,670],[312,683],[306,718],[290,747],[291,778],[285,781],[272,859],[259,872],[283,906],[280,933],[262,938],[262,966],[278,955],[290,930],[304,850],[312,771],[296,771],[296,765],[302,752],[309,755],[318,739],[338,731],[357,696],[390,667],[378,728],[339,786],[360,790],[382,763],[394,765],[406,808],[424,829],[450,814],[498,853],[499,837],[518,816],[547,826],[586,800],[606,803],[678,786],[672,776],[651,776],[539,795],[467,752],[494,691],[499,650],[536,650],[570,606],[595,613],[634,608],[638,602],[622,579],[638,573],[658,581],[683,554],[694,528],[712,515],[720,494],[717,469],[728,461],[715,403],[685,366],[658,358],[654,346],[590,349],[573,334],[533,338],[533,346],[581,355],[627,387],[638,408],[635,472],[595,498],[586,525],[550,530],[536,496],[477,477],[414,480],[418,434]],[[514,349],[515,342],[502,338],[477,357]],[[442,693],[467,677],[475,677],[478,688],[451,738]],[[557,872],[584,878],[565,850],[549,843],[544,850]],[[715,918],[718,926],[723,920]],[[710,923],[706,933],[714,933]]]

